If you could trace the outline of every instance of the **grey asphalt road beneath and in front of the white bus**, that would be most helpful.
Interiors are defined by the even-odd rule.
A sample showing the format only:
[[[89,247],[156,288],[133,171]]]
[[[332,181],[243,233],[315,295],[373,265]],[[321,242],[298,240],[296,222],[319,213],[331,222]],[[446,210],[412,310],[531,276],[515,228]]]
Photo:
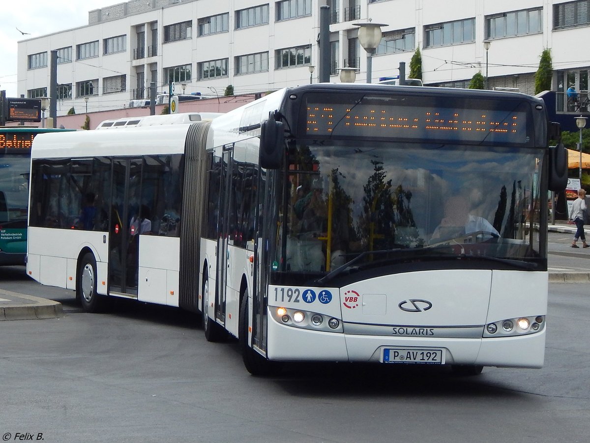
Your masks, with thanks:
[[[456,377],[293,364],[265,379],[246,372],[234,341],[205,341],[192,314],[125,302],[86,314],[73,292],[39,286],[22,269],[0,278],[15,292],[53,291],[67,314],[0,322],[5,441],[27,432],[60,443],[590,441],[586,285],[550,284],[543,369]]]

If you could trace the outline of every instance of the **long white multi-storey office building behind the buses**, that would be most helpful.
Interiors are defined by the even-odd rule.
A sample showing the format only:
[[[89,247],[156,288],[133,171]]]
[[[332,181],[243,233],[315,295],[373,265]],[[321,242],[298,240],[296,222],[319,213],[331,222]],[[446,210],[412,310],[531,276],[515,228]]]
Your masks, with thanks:
[[[317,82],[322,5],[330,7],[331,82],[342,67],[366,82],[353,24],[371,19],[384,24],[372,82],[398,75],[400,62],[408,76],[418,47],[424,84],[467,87],[481,71],[490,89],[532,94],[549,48],[557,110],[588,111],[588,0],[131,0],[90,11],[86,26],[19,42],[18,93],[48,95],[51,50],[58,115],[122,108],[148,98],[150,82],[158,92],[173,80],[176,93],[206,96],[230,84],[239,95]],[[568,108],[570,84],[586,97],[577,109]]]

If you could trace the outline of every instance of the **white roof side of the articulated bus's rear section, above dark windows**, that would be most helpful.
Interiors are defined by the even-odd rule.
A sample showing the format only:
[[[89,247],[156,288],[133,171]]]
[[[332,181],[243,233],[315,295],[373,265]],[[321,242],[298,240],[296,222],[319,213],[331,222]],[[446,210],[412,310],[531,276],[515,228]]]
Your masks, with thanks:
[[[122,131],[76,131],[40,134],[32,158],[78,158],[182,154],[191,125],[148,126]]]

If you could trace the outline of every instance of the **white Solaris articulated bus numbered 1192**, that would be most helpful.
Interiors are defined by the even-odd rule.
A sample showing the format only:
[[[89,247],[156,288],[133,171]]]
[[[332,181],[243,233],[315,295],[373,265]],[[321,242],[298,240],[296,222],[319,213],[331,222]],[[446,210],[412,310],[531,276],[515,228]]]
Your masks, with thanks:
[[[566,151],[505,92],[313,84],[212,122],[40,135],[28,273],[199,311],[247,369],[540,367]]]

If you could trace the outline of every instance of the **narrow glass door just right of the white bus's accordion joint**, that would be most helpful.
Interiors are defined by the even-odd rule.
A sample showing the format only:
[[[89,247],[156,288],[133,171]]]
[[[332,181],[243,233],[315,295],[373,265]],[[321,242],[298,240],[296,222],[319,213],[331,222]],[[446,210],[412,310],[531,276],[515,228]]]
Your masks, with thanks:
[[[232,223],[232,163],[234,146],[223,147],[223,157],[219,168],[219,211],[217,237],[217,284],[215,285],[215,320],[225,324],[225,298],[228,271],[230,267],[230,234]]]

